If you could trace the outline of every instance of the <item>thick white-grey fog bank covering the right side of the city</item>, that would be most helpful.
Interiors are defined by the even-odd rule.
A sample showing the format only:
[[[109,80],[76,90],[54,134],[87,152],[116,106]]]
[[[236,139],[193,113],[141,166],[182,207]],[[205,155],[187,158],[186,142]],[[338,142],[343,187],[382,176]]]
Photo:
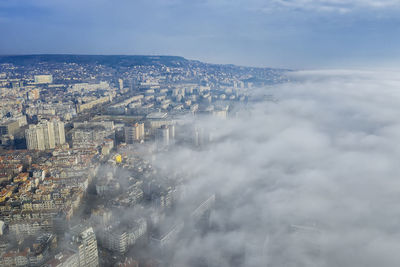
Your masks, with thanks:
[[[210,144],[157,155],[186,175],[185,196],[217,195],[210,230],[185,232],[173,266],[399,265],[398,73],[290,77],[251,92],[277,101],[198,119]]]

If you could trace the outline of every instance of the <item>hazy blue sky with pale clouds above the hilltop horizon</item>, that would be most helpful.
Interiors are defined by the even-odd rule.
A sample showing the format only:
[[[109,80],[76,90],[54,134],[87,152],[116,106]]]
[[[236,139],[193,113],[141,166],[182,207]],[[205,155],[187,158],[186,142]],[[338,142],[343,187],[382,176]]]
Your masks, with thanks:
[[[399,0],[0,0],[0,54],[396,68]]]

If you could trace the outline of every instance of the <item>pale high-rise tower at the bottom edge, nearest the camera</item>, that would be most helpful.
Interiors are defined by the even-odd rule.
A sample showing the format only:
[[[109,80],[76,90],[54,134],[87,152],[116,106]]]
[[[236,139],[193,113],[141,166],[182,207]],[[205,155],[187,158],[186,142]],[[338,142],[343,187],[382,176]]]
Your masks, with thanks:
[[[72,249],[76,250],[79,257],[79,266],[99,266],[96,235],[92,227],[76,225],[71,229]]]

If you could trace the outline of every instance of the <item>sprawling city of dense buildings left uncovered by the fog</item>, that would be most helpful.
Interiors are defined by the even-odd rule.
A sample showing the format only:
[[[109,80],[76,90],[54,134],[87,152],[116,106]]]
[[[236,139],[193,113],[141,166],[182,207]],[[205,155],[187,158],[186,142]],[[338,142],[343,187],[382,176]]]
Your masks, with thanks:
[[[206,149],[204,118],[240,116],[253,87],[288,80],[180,57],[0,62],[2,266],[167,266],[180,235],[209,230],[218,195],[188,196],[190,174],[158,157]]]

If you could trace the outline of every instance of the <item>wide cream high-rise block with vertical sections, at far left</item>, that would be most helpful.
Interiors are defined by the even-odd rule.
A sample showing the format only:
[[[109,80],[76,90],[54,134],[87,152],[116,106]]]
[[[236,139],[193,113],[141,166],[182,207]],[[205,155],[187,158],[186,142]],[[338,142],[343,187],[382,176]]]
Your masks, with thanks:
[[[25,130],[28,149],[54,149],[56,145],[65,143],[64,123],[60,120],[41,121],[37,125],[29,125]]]

